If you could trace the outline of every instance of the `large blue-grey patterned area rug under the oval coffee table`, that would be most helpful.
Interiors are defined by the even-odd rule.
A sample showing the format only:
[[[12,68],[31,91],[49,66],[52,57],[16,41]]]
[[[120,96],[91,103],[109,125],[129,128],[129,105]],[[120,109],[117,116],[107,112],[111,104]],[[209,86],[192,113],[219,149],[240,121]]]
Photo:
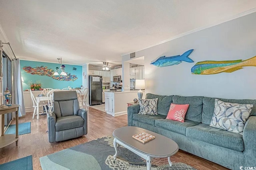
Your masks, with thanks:
[[[130,150],[118,146],[117,158],[113,137],[102,137],[94,141],[61,150],[40,158],[43,170],[146,170],[146,161]],[[169,166],[167,158],[152,159],[151,170],[196,170],[182,162]]]

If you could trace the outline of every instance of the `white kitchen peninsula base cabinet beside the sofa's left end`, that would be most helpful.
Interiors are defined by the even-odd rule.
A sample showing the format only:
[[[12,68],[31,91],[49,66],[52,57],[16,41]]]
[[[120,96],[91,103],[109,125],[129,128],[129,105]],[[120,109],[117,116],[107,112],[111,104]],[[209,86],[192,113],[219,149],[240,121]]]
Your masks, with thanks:
[[[112,116],[127,114],[127,103],[138,99],[138,91],[105,92],[105,110]]]

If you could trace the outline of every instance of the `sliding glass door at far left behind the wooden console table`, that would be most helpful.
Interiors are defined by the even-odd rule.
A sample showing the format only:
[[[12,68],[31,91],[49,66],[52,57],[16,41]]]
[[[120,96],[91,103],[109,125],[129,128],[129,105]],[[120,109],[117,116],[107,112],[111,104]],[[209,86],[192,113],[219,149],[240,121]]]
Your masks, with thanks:
[[[3,91],[8,88],[12,92],[12,60],[3,52]],[[12,120],[12,113],[4,115],[4,126]]]

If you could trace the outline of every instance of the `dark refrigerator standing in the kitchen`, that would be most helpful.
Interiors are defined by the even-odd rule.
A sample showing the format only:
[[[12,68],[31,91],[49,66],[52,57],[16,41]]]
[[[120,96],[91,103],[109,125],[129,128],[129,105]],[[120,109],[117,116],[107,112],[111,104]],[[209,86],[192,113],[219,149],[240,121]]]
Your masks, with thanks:
[[[89,76],[89,104],[102,104],[102,76]]]

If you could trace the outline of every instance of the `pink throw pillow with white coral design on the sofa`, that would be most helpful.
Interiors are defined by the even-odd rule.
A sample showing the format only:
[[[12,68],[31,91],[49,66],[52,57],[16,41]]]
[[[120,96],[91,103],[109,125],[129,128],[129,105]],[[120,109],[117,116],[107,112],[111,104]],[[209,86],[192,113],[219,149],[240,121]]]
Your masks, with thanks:
[[[184,122],[189,104],[171,104],[166,119]]]

